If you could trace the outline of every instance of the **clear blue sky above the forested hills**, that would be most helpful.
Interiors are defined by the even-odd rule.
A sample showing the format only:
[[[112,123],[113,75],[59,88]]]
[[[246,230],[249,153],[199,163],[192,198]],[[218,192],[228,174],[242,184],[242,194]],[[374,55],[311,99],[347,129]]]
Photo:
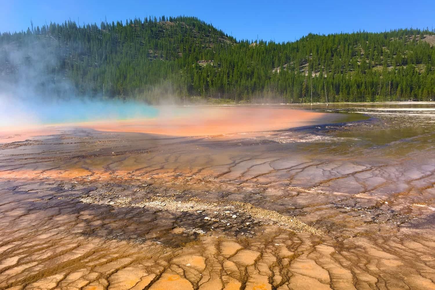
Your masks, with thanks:
[[[309,32],[384,31],[435,24],[433,0],[193,1],[1,0],[0,32],[45,22],[122,20],[147,15],[196,16],[237,39],[287,41]]]

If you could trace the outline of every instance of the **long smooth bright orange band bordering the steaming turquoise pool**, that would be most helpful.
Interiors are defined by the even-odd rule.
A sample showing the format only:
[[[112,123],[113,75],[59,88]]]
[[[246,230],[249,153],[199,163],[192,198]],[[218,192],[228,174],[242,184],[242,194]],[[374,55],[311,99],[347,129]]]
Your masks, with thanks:
[[[334,123],[341,114],[288,107],[157,107],[157,117],[107,118],[75,123],[29,124],[0,127],[0,143],[40,139],[74,128],[107,132],[136,132],[169,136],[210,136],[261,132]]]

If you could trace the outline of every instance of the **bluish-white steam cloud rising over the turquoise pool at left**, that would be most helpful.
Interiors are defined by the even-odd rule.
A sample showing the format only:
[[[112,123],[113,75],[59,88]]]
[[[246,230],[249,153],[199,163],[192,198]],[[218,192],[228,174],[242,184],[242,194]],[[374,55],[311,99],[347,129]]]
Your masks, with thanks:
[[[157,115],[142,102],[77,95],[60,70],[63,53],[54,40],[0,47],[0,130]]]

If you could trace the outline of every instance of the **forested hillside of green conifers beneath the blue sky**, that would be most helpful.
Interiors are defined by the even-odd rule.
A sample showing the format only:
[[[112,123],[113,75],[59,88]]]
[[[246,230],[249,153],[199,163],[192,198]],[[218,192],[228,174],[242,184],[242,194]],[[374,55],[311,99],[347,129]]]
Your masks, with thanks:
[[[314,102],[434,100],[432,34],[309,34],[274,43],[235,40],[194,17],[99,26],[67,21],[2,33],[0,78],[21,84],[34,78],[40,94],[149,102],[168,95],[288,103],[310,102],[311,94]],[[34,77],[23,77],[23,68],[34,67]]]

